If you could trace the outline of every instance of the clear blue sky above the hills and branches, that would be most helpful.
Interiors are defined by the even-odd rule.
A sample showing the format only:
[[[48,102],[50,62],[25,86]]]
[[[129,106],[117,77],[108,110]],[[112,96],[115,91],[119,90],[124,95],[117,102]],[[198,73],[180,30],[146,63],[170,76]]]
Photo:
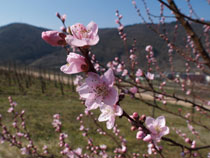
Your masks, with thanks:
[[[146,17],[142,1],[136,1]],[[153,14],[160,12],[157,0],[146,1]],[[188,14],[189,9],[185,0],[176,1],[179,8]],[[207,0],[191,0],[191,2],[199,17],[210,20],[210,5]],[[86,25],[93,20],[100,28],[117,27],[115,24],[116,9],[123,15],[123,24],[140,22],[131,0],[0,0],[0,4],[0,26],[22,22],[58,30],[61,23],[55,13],[60,12],[67,15],[67,25],[76,22]],[[170,15],[170,12],[166,14]]]

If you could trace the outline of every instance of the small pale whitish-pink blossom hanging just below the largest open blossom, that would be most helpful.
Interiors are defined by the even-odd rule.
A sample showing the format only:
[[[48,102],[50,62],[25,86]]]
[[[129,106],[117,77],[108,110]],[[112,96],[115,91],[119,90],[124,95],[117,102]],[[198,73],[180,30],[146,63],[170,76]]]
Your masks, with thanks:
[[[98,118],[98,121],[107,121],[106,127],[108,129],[112,129],[114,127],[115,116],[121,116],[123,114],[123,110],[120,106],[114,105],[102,105],[100,107],[101,115]]]

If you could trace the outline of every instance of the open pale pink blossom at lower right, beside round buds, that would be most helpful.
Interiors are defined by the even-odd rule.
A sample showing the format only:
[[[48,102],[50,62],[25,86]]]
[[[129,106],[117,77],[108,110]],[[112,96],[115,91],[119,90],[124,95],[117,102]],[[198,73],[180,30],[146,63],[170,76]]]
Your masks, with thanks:
[[[159,142],[161,137],[169,134],[169,128],[165,125],[165,117],[159,116],[156,120],[152,117],[147,117],[145,124],[151,132],[152,140]]]

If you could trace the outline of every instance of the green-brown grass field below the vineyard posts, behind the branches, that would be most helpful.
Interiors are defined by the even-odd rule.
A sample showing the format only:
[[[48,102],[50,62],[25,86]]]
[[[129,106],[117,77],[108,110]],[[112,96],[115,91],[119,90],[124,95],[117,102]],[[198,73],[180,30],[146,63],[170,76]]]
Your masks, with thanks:
[[[13,78],[11,74],[11,78]],[[41,91],[41,82],[37,78],[32,78],[33,84],[29,87],[25,87],[24,79],[21,80],[22,86],[24,87],[25,93],[22,93],[15,81],[8,82],[7,76],[3,73],[0,73],[0,114],[2,114],[2,121],[4,124],[10,127],[11,126],[11,117],[7,110],[9,108],[8,96],[12,96],[14,101],[18,103],[17,111],[24,109],[26,114],[26,123],[28,129],[32,135],[32,138],[35,142],[35,145],[41,149],[43,145],[47,145],[51,153],[58,153],[58,134],[54,132],[52,127],[53,114],[59,113],[61,115],[61,120],[63,122],[63,131],[68,134],[68,142],[72,148],[84,147],[87,142],[83,138],[82,133],[79,130],[79,123],[76,120],[76,117],[84,111],[84,106],[78,99],[78,95],[75,92],[72,92],[72,88],[67,85],[64,86],[64,95],[61,94],[59,84],[55,87],[53,81],[46,82],[46,90],[43,94]],[[129,96],[125,98],[122,102],[123,109],[125,109],[129,114],[137,111],[139,114],[150,115],[152,113],[152,108],[147,105],[131,99]],[[164,105],[161,105],[164,106]],[[169,110],[174,112],[178,111],[178,108],[182,109],[183,114],[186,114],[191,109],[178,105],[167,105],[166,107]],[[95,111],[95,116],[98,117],[99,112]],[[197,146],[208,145],[210,142],[209,131],[193,125],[197,131],[199,131],[201,138],[196,138],[194,135],[190,134],[186,126],[186,122],[181,120],[178,117],[164,113],[162,111],[156,110],[155,116],[164,115],[167,120],[167,125],[170,127],[171,132],[167,136],[176,141],[181,141],[184,143],[182,138],[180,138],[172,130],[172,127],[181,129],[185,133],[189,133],[190,138],[195,139]],[[202,115],[195,113],[194,119],[201,119],[201,121],[208,126],[210,122],[207,119],[202,119]],[[102,137],[96,132],[96,127],[93,124],[93,121],[89,118],[85,119],[87,127],[90,127],[89,134],[93,137],[95,144],[106,144],[108,146],[108,151],[112,153],[113,149],[116,147],[109,137]],[[125,118],[117,118],[117,123],[119,129],[121,130],[121,135],[127,139],[127,145],[129,152],[139,152],[140,154],[147,153],[147,144],[136,140],[136,132],[130,131],[130,124]],[[105,129],[105,123],[100,123],[100,125]],[[106,130],[108,131],[108,130]],[[112,131],[108,131],[112,134]],[[180,148],[169,146],[166,142],[161,142],[164,150],[163,153],[166,157],[178,158],[180,156]],[[187,145],[187,144],[186,144]],[[208,150],[201,150],[201,155],[206,157]],[[24,157],[20,154],[20,151],[15,147],[9,146],[7,143],[0,144],[0,158],[19,158]],[[25,156],[26,157],[26,156]],[[57,157],[61,157],[60,154],[57,154]]]

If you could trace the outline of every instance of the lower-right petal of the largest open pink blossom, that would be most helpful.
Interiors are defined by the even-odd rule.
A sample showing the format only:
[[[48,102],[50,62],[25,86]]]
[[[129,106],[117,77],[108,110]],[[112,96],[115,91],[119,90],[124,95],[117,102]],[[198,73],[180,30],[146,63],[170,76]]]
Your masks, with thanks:
[[[103,98],[103,102],[106,105],[115,105],[118,101],[118,92],[112,87],[109,89],[109,94]]]

